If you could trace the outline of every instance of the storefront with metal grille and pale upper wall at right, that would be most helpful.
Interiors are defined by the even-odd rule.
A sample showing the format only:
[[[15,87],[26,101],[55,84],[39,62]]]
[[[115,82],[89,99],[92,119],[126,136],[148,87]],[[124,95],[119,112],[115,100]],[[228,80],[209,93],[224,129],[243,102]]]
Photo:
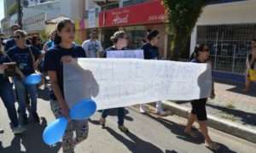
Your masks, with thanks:
[[[207,43],[215,74],[244,81],[250,43],[256,38],[255,14],[254,0],[208,5],[191,35],[190,53],[196,43]]]

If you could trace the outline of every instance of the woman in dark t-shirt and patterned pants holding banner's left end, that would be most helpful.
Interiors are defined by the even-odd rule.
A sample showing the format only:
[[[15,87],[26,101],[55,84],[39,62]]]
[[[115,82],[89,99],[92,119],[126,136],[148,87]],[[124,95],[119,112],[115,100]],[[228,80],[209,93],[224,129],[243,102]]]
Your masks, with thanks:
[[[63,63],[73,61],[73,58],[86,57],[84,49],[73,44],[75,25],[72,20],[61,20],[56,26],[55,46],[49,48],[45,55],[44,70],[48,72],[51,82],[50,107],[55,117],[65,116],[69,119],[67,130],[62,138],[64,153],[72,153],[76,144],[88,136],[88,120],[71,121],[69,107],[64,98]],[[76,137],[73,137],[73,132]]]

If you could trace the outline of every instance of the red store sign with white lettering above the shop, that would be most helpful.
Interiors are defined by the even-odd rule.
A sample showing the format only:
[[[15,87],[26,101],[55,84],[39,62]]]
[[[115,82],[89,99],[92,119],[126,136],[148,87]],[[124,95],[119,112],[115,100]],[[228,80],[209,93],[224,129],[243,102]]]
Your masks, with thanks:
[[[99,18],[100,27],[110,27],[162,23],[166,15],[164,6],[160,1],[155,0],[150,3],[104,11],[100,13]]]

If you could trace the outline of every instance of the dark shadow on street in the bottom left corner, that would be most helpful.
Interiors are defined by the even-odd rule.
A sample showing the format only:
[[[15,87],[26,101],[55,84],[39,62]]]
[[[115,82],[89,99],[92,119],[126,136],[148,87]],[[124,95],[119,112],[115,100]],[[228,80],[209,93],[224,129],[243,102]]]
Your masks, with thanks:
[[[56,144],[53,147],[50,147],[47,144],[44,144],[42,139],[42,133],[44,128],[47,126],[47,122],[44,117],[41,118],[42,122],[30,123],[27,126],[26,132],[20,135],[16,135],[12,140],[9,147],[3,148],[0,144],[1,153],[10,153],[10,152],[26,152],[26,153],[56,153],[61,149],[61,144]],[[24,146],[26,151],[21,151],[20,143]]]

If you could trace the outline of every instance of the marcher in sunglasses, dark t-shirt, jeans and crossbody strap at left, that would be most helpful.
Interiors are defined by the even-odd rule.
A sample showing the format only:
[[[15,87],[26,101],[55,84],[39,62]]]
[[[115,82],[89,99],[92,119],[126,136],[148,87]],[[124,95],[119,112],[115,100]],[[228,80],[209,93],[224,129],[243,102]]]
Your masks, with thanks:
[[[27,124],[26,96],[31,100],[29,111],[31,111],[34,121],[39,122],[37,112],[38,87],[37,85],[27,85],[25,79],[35,73],[43,55],[38,48],[26,45],[26,31],[15,31],[14,38],[17,46],[10,48],[7,55],[11,61],[16,62],[18,69],[21,71],[20,76],[14,77],[14,82],[22,124]]]

